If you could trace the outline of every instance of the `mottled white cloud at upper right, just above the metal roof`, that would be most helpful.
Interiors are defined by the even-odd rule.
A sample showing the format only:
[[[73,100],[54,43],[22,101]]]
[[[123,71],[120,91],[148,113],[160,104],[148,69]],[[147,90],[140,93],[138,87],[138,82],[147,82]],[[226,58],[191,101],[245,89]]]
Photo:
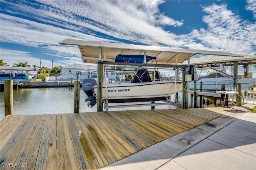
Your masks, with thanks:
[[[256,46],[256,24],[240,19],[237,14],[227,9],[225,4],[204,6],[206,13],[202,20],[208,27],[194,29],[183,35],[187,39],[185,47],[212,49],[238,54],[252,54]]]

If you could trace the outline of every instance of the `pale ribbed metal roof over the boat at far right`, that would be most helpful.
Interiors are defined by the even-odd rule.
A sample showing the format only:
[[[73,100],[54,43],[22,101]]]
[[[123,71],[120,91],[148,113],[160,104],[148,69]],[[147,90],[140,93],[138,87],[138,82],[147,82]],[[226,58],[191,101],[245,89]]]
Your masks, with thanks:
[[[244,64],[256,64],[255,55],[243,55],[244,57],[220,57],[220,56],[209,56],[190,59],[190,65],[196,67],[207,67],[207,66],[219,66],[223,64],[225,66],[233,65],[235,61],[238,62],[238,65]],[[184,61],[182,64],[188,64],[188,61]]]

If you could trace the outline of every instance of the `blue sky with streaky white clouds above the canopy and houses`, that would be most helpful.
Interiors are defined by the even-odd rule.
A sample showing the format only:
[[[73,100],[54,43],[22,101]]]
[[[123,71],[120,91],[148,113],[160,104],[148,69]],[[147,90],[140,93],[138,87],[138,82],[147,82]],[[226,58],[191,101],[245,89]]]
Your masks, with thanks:
[[[255,0],[0,0],[0,6],[0,59],[10,66],[82,64],[77,46],[58,44],[66,38],[256,53]]]

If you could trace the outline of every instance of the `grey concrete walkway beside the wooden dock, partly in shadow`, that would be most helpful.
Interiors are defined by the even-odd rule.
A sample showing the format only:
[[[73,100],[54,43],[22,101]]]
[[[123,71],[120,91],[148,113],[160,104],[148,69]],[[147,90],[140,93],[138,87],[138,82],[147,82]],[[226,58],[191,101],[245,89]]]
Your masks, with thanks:
[[[245,104],[101,170],[256,169],[256,113]]]

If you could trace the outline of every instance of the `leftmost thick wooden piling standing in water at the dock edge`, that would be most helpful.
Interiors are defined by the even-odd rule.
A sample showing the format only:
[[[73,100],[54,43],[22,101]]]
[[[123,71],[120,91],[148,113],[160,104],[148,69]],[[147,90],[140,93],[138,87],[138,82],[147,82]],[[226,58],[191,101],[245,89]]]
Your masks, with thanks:
[[[13,80],[4,80],[4,116],[13,115]]]

